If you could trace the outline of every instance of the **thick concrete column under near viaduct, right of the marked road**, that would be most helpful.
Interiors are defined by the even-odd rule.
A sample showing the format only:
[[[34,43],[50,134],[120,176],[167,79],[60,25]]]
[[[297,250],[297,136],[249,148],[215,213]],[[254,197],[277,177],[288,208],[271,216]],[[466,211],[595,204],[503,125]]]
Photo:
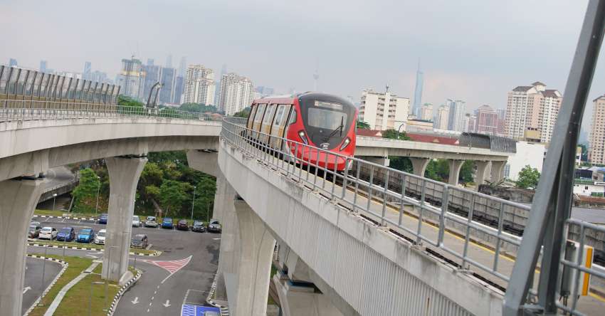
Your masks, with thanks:
[[[236,200],[233,204],[239,224],[240,253],[236,258],[236,296],[228,297],[229,310],[235,316],[265,316],[275,238],[245,201]]]

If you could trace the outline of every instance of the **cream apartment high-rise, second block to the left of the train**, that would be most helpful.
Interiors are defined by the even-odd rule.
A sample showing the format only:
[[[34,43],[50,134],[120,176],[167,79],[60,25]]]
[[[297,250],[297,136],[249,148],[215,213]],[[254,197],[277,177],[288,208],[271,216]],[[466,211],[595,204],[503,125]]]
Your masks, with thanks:
[[[189,65],[185,73],[183,102],[215,104],[214,89],[214,70],[203,65]]]

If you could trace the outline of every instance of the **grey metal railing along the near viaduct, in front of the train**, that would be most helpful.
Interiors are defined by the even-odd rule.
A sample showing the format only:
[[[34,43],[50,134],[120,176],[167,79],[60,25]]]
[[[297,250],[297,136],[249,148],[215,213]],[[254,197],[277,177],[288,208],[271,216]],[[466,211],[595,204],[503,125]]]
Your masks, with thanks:
[[[516,248],[521,241],[520,237],[504,231],[505,212],[512,209],[528,211],[528,206],[335,154],[283,137],[255,132],[241,123],[241,120],[234,121],[230,118],[223,120],[221,137],[286,177],[358,212],[377,225],[391,228],[412,243],[428,245],[427,248],[433,249],[439,256],[451,258],[448,260],[461,270],[474,267],[473,270],[478,268],[488,273],[495,277],[488,279],[500,286],[501,290],[505,289],[510,275],[502,272],[506,270],[501,267],[501,257],[505,256],[503,249]],[[337,171],[337,164],[333,164],[333,168],[327,168],[333,162],[344,164],[344,172]],[[363,176],[362,169],[368,169],[369,174]],[[400,180],[394,183],[391,179]],[[417,186],[420,186],[420,196],[415,194]],[[441,196],[436,197],[435,190],[441,192]],[[470,196],[470,201],[464,206],[466,216],[460,216],[450,209],[450,204],[460,192]],[[428,199],[429,195],[431,199]],[[479,201],[483,201],[484,205],[488,201],[499,210],[495,226],[475,221],[473,212]],[[437,228],[437,231],[433,228]],[[477,233],[489,236],[485,239],[492,241],[491,245],[487,241],[483,244],[492,249],[489,260],[473,256],[470,251],[470,244],[475,239],[473,236]],[[447,239],[446,234],[448,238],[454,235],[458,239]],[[453,239],[456,239],[456,243],[452,242]],[[485,253],[482,256],[485,257],[484,255]]]

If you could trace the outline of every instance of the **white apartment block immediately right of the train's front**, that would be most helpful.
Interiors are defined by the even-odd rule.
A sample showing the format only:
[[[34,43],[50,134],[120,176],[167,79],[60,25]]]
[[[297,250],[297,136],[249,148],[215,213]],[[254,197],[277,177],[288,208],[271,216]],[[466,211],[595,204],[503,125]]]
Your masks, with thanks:
[[[385,93],[377,93],[371,89],[363,90],[359,120],[367,122],[372,130],[399,130],[401,125],[405,130],[409,107],[409,98],[391,94],[388,88]]]

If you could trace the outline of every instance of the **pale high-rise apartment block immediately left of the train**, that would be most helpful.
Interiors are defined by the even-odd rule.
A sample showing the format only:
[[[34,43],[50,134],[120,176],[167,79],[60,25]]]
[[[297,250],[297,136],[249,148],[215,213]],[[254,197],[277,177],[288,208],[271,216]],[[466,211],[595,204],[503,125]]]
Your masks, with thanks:
[[[252,104],[254,86],[252,81],[236,73],[226,73],[219,85],[219,111],[233,115]]]

